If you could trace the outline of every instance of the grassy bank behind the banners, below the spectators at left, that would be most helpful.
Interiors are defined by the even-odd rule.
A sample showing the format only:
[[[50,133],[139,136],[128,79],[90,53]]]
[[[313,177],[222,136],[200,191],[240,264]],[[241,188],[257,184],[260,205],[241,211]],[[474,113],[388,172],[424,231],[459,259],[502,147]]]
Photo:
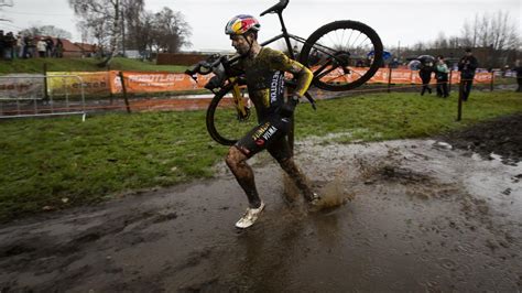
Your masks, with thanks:
[[[0,61],[0,75],[14,73],[42,74],[44,63],[47,64],[48,72],[100,72],[108,68],[100,68],[97,58],[30,58]],[[187,66],[155,65],[151,62],[141,62],[116,57],[110,64],[110,69],[115,70],[143,70],[143,72],[174,72],[183,73]]]

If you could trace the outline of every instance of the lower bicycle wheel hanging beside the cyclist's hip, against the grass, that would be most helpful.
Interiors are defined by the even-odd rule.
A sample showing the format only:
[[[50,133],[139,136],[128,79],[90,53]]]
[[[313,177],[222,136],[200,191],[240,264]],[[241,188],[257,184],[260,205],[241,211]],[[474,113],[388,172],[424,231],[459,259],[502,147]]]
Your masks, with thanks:
[[[243,97],[243,99],[248,99]],[[207,109],[207,130],[213,140],[224,145],[235,144],[257,126],[255,110],[248,108],[248,117],[240,117],[233,104],[232,86],[224,87],[214,96]]]

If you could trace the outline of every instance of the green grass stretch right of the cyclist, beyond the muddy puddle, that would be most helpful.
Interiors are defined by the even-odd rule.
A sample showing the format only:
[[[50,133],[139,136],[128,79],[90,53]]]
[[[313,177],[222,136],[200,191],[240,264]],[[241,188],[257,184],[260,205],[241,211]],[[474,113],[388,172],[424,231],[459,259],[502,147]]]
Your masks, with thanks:
[[[456,122],[457,93],[452,95],[441,99],[416,93],[374,94],[326,100],[315,112],[308,105],[301,105],[296,135],[339,133],[336,142],[421,138],[522,111],[518,93],[475,90],[470,101],[463,104],[463,120]]]

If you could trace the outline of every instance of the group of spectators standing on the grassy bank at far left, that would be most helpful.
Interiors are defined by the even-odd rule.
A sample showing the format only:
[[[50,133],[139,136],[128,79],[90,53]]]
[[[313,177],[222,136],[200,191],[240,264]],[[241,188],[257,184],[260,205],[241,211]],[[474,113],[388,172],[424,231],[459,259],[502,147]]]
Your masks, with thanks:
[[[0,30],[0,59],[63,57],[62,40],[41,35],[14,35]]]

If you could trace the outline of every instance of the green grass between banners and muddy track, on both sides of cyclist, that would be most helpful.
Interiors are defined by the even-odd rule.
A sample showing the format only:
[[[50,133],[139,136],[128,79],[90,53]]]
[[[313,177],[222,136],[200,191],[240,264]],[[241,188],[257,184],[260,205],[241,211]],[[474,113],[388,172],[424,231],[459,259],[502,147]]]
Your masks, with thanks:
[[[454,93],[455,95],[455,93]],[[522,111],[516,93],[471,93],[464,120],[455,98],[378,94],[301,105],[296,140],[422,138]],[[100,202],[129,191],[213,176],[227,148],[206,132],[205,112],[111,113],[0,121],[0,221]]]

